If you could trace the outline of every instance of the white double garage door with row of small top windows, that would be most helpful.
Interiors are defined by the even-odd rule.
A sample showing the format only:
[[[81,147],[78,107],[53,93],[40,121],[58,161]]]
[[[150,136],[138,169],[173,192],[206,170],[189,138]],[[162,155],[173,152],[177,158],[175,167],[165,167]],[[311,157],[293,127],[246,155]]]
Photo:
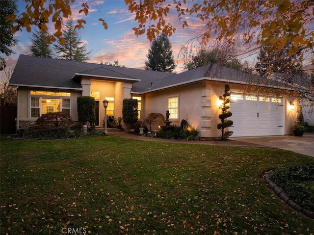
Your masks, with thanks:
[[[230,97],[230,131],[236,136],[281,135],[283,130],[283,99],[280,97],[242,96]]]

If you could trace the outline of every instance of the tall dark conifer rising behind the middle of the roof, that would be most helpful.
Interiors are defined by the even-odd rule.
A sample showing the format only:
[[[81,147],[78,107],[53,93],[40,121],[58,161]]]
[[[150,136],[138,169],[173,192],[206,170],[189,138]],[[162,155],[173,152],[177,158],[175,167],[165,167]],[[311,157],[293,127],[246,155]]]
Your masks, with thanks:
[[[148,60],[145,61],[145,69],[169,73],[173,72],[176,65],[171,48],[170,40],[166,34],[162,33],[155,38],[148,51]]]

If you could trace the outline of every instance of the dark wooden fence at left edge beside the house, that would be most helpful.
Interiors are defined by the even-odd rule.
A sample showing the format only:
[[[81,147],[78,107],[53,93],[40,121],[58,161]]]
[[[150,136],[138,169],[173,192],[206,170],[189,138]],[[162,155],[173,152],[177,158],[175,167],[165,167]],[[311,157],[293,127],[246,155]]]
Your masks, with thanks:
[[[0,106],[0,134],[16,133],[15,118],[17,116],[16,106]]]

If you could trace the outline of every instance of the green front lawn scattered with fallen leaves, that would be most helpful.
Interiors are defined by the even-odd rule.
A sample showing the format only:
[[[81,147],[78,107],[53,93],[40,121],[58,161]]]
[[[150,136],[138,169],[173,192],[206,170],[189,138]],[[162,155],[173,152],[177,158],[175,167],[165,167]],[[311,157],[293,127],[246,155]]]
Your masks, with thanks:
[[[189,143],[1,137],[1,235],[313,235],[262,180],[313,157]]]

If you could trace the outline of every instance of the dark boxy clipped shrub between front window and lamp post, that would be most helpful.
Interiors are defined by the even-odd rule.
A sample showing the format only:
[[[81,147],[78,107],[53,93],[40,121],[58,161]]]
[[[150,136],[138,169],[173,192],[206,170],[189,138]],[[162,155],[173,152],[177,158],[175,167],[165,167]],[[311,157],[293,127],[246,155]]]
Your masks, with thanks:
[[[77,102],[78,121],[81,122],[81,125],[86,125],[86,123],[89,122],[89,124],[93,126],[96,120],[94,97],[80,96]]]

